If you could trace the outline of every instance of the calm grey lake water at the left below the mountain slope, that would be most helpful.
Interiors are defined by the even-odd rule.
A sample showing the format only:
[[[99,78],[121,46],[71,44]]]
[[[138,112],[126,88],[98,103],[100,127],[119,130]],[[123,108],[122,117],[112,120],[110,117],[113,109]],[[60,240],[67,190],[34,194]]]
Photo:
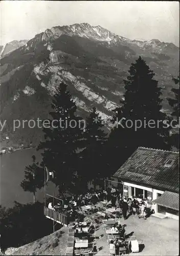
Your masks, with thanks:
[[[6,207],[14,205],[14,201],[19,203],[33,202],[33,194],[25,192],[20,182],[24,179],[25,166],[32,164],[32,156],[36,156],[37,161],[41,161],[41,154],[35,148],[19,150],[13,153],[0,156],[1,176],[0,176],[0,204]],[[57,189],[50,181],[48,182],[47,193],[53,195],[53,189]],[[43,202],[44,189],[37,190],[36,200]]]

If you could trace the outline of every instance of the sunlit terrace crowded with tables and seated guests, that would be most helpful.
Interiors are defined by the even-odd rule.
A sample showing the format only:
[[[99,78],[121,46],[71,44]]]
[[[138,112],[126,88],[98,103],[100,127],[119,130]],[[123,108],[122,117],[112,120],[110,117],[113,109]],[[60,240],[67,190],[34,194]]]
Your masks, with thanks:
[[[113,190],[115,193],[112,193]],[[168,218],[160,220],[153,217],[152,212],[147,219],[139,219],[141,210],[134,212],[133,208],[124,220],[118,195],[119,191],[112,189],[109,194],[111,199],[108,201],[101,200],[100,197],[101,199],[94,202],[93,194],[82,196],[82,201],[89,197],[83,205],[82,202],[80,205],[74,205],[78,200],[73,199],[68,202],[66,209],[64,209],[65,205],[63,208],[54,205],[54,210],[44,208],[44,214],[47,217],[70,227],[73,236],[69,240],[66,255],[109,255],[110,243],[115,244],[116,255],[122,254],[121,249],[124,250],[123,254],[127,255],[132,253],[133,255],[177,255],[177,221]],[[113,203],[114,197],[117,201]],[[59,212],[56,207],[59,207]],[[147,208],[150,209],[150,207],[151,205],[147,205]],[[139,203],[139,209],[141,209],[141,203]],[[74,216],[69,215],[71,212],[74,212]],[[111,229],[114,225],[118,230]],[[121,249],[119,245],[123,245],[120,246]]]

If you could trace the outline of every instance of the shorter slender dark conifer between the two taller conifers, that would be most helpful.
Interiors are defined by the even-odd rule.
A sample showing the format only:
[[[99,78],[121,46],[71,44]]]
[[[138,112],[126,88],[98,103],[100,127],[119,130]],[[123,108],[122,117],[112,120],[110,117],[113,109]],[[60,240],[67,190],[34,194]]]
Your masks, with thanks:
[[[96,108],[93,108],[86,118],[83,139],[85,149],[81,152],[82,177],[86,181],[94,180],[94,183],[97,183],[101,177],[104,177],[103,152],[107,134],[104,132],[103,119]]]

